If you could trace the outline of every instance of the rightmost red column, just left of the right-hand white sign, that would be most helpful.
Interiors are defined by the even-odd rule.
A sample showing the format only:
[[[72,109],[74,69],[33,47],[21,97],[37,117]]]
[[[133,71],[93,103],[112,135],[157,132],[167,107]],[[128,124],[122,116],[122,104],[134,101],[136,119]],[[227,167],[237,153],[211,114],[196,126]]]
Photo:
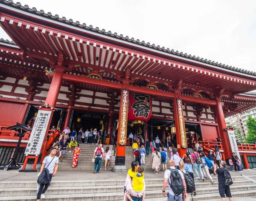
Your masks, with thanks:
[[[225,153],[225,157],[226,157],[226,160],[228,160],[228,158],[232,156],[232,149],[230,147],[230,141],[227,134],[227,130],[224,130],[227,127],[227,125],[225,122],[221,101],[217,100],[216,103],[217,105],[215,105],[215,114],[218,121],[218,129],[220,132],[221,142],[222,142],[223,150]]]

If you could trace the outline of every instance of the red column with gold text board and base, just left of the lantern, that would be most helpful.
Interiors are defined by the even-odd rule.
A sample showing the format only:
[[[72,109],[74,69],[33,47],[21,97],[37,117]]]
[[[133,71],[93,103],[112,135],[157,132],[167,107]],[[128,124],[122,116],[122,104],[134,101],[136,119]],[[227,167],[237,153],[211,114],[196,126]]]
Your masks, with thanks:
[[[125,166],[125,144],[126,144],[126,134],[127,134],[127,116],[128,116],[128,97],[129,91],[127,89],[122,89],[120,108],[119,108],[119,121],[118,121],[118,132],[117,132],[117,142],[116,142],[116,161],[113,167],[113,172],[126,171]],[[122,167],[118,167],[122,166]]]

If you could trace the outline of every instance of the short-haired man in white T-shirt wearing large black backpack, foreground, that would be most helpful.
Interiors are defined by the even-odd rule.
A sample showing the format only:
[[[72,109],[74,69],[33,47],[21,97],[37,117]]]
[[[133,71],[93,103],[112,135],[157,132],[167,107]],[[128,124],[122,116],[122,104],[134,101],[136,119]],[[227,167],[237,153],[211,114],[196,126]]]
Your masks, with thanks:
[[[168,196],[168,201],[181,201],[186,199],[186,181],[184,175],[180,170],[175,168],[174,160],[169,161],[170,169],[164,173],[163,181],[163,196]],[[169,191],[166,195],[165,189],[169,185]]]

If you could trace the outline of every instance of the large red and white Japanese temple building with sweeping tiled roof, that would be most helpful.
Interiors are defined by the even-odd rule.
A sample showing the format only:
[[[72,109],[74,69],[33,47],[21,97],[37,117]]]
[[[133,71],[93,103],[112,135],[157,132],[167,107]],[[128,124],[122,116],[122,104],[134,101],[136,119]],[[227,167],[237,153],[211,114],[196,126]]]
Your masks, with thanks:
[[[11,152],[18,138],[4,127],[40,127],[46,116],[40,133],[23,137],[21,156],[45,156],[54,139],[44,129],[53,125],[104,128],[117,141],[121,166],[130,132],[163,142],[170,135],[180,154],[198,140],[205,150],[215,143],[225,159],[232,156],[225,118],[256,107],[256,95],[247,93],[256,90],[256,73],[12,0],[1,0],[0,8],[0,25],[13,40],[0,40],[0,153]],[[250,146],[238,147],[246,168],[255,165]]]

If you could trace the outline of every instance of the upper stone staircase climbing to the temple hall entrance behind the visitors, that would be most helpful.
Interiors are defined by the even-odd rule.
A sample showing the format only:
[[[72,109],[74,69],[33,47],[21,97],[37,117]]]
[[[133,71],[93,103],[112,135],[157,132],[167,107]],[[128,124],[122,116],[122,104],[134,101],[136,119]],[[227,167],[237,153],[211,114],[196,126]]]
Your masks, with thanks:
[[[80,144],[81,154],[78,159],[78,165],[76,168],[72,168],[72,161],[73,161],[73,149],[71,153],[66,152],[63,161],[59,161],[58,164],[58,170],[93,170],[94,164],[91,162],[93,158],[93,152],[96,149],[98,145],[96,144]],[[111,170],[112,167],[115,165],[115,159],[116,157],[113,156],[113,145],[103,145],[104,150],[108,146],[111,150],[112,157],[109,164],[109,169]],[[68,149],[69,150],[69,149]],[[151,149],[149,152],[149,157],[145,157],[145,170],[151,170],[152,162],[151,162]],[[169,155],[169,154],[168,154]],[[169,159],[169,157],[168,157]],[[127,166],[127,169],[131,167],[131,162],[134,161],[134,156],[132,154],[132,147],[126,146],[125,147],[125,165]],[[102,161],[101,163],[101,170],[105,169],[105,161]]]

